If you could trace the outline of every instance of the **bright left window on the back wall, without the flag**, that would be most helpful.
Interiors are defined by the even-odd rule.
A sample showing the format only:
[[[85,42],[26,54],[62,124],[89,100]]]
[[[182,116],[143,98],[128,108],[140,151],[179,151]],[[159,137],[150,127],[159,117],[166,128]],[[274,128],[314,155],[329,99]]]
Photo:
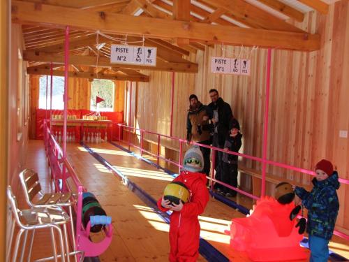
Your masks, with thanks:
[[[50,109],[50,75],[47,77],[47,82],[47,109]],[[64,77],[54,76],[52,83],[52,109],[64,109]],[[39,108],[46,109],[46,75],[40,77]]]

